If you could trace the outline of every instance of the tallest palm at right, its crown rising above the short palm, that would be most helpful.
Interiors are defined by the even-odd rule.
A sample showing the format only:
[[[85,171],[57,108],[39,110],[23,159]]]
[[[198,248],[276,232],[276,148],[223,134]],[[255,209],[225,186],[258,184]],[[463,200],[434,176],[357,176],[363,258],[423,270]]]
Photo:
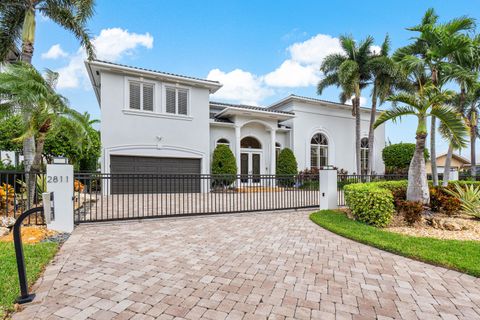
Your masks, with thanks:
[[[470,41],[465,35],[473,31],[475,21],[469,17],[459,17],[446,23],[438,23],[438,15],[433,9],[424,14],[419,25],[407,28],[409,31],[418,32],[415,41],[394,54],[396,61],[421,64],[430,76],[431,83],[438,86],[444,76],[443,71],[449,63],[448,59],[455,52],[468,51]],[[435,136],[437,124],[436,117],[431,118],[430,154],[432,157],[432,180],[438,185]]]

